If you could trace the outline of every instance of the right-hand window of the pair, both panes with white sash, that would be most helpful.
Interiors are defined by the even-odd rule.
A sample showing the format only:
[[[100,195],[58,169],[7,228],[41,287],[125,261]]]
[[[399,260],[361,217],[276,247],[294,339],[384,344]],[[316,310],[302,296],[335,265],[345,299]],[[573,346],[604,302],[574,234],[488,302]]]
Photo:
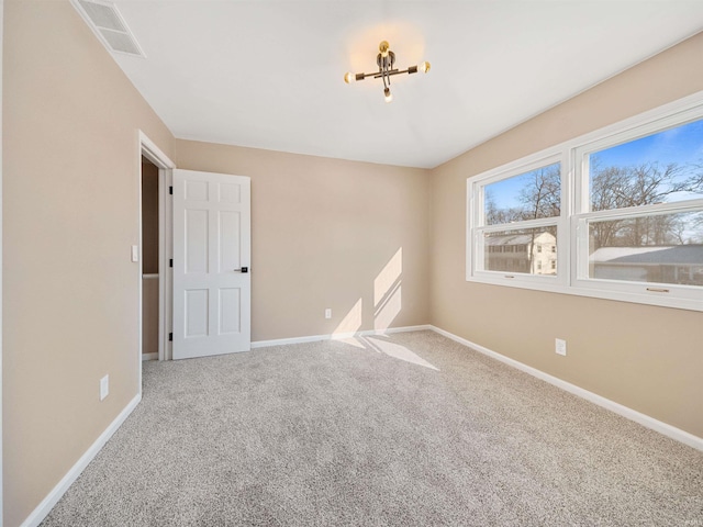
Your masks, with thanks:
[[[637,292],[644,284],[682,298],[703,292],[703,120],[696,117],[662,120],[576,149],[584,190],[576,211],[581,287]]]

